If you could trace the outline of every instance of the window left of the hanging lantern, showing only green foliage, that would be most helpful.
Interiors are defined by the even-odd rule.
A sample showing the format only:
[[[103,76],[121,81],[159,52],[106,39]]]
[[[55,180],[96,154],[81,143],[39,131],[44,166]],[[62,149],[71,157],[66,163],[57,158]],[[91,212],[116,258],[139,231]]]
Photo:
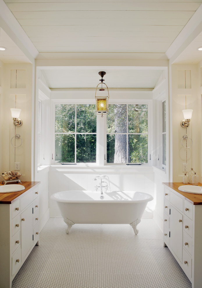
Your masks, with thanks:
[[[55,105],[55,161],[96,162],[95,104]]]

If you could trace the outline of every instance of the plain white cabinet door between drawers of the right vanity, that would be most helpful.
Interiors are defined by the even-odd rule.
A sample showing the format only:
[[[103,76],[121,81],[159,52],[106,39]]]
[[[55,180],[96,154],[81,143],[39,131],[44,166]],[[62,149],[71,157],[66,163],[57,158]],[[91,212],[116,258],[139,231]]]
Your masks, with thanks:
[[[182,263],[182,214],[170,205],[170,247]]]

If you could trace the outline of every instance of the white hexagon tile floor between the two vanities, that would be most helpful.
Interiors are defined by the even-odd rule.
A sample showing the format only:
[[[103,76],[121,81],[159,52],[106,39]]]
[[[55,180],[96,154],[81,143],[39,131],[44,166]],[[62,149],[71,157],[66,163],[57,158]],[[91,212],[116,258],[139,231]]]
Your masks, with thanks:
[[[191,288],[153,219],[130,225],[76,224],[65,233],[50,218],[12,288]]]

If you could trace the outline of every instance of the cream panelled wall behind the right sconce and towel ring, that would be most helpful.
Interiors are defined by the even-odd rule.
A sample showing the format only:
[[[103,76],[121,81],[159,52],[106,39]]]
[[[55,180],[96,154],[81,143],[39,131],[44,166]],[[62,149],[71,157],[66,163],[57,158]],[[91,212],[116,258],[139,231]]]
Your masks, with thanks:
[[[172,75],[172,148],[173,148],[173,182],[182,182],[184,173],[182,164],[187,163],[187,170],[193,168],[201,177],[201,94],[200,73],[196,64],[173,64]],[[180,125],[183,120],[183,109],[193,109],[189,127]],[[190,148],[184,148],[186,141],[182,140],[187,135],[193,140]],[[188,138],[187,146],[190,139]]]

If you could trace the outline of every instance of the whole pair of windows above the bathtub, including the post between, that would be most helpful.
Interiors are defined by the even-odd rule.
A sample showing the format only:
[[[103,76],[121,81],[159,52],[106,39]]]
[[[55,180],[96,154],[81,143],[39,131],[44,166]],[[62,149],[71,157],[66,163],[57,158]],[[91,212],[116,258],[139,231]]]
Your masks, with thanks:
[[[103,118],[96,115],[95,104],[71,101],[54,101],[55,162],[148,163],[150,100],[109,104]]]

